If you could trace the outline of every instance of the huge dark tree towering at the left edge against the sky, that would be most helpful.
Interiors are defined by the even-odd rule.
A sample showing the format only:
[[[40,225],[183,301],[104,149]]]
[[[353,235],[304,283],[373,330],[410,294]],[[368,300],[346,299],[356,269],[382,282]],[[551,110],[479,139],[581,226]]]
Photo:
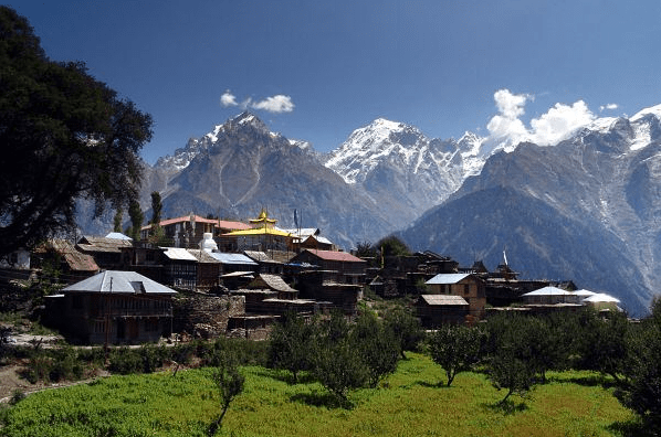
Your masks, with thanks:
[[[0,255],[75,227],[138,193],[151,117],[82,62],[49,60],[28,20],[0,7]]]

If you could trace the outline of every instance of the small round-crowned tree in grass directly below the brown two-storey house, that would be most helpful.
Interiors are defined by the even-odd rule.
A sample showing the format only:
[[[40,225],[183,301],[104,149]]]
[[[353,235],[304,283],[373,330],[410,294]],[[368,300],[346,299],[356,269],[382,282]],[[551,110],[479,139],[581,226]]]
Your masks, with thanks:
[[[480,360],[481,335],[478,328],[463,326],[442,327],[431,335],[431,359],[445,371],[448,386],[458,373],[470,371]]]

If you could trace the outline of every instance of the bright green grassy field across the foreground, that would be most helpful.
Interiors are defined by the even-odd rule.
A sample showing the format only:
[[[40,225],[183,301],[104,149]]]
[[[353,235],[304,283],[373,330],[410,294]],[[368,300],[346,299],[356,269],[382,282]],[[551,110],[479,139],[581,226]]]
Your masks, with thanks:
[[[636,423],[599,374],[548,373],[528,397],[504,393],[481,373],[451,387],[429,358],[409,354],[379,388],[340,408],[317,383],[290,385],[285,373],[242,367],[244,392],[231,404],[223,436],[600,436]],[[206,436],[219,414],[210,370],[112,376],[30,395],[7,413],[7,436]]]

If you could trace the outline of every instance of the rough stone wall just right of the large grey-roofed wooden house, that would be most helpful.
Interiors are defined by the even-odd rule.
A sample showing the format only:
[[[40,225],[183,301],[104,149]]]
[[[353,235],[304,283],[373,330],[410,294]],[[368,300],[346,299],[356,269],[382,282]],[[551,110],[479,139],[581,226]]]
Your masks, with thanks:
[[[179,294],[172,310],[174,332],[210,339],[227,333],[230,317],[245,313],[245,297]]]

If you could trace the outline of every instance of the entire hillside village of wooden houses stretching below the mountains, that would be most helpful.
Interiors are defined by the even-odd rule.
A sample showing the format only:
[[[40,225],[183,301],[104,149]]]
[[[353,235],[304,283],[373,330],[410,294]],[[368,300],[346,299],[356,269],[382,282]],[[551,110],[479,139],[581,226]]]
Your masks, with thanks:
[[[408,297],[421,326],[472,326],[502,311],[547,313],[591,306],[621,311],[616,298],[570,281],[520,279],[504,256],[490,271],[432,252],[356,256],[318,228],[280,228],[265,209],[249,223],[188,216],[122,233],[50,239],[2,264],[6,284],[57,284],[41,320],[77,344],[140,344],[222,335],[265,339],[286,311],[357,313],[370,296]],[[376,252],[375,252],[376,253]],[[363,254],[365,255],[365,254]]]

